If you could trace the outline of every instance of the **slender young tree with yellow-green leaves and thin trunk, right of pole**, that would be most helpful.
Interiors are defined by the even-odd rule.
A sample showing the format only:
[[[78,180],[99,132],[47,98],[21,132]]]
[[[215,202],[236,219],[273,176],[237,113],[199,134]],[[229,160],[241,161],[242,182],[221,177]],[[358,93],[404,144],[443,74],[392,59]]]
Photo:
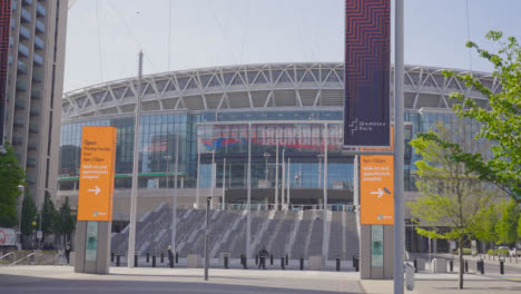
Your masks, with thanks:
[[[464,129],[464,128],[463,128]],[[461,128],[449,131],[443,125],[438,125],[434,134],[444,141],[460,139],[456,143],[468,146],[466,137],[458,134]],[[429,137],[427,137],[429,138]],[[451,154],[435,140],[419,136],[411,140],[423,159],[416,161],[416,186],[421,196],[415,202],[407,203],[411,215],[419,220],[416,232],[431,238],[456,239],[459,243],[460,275],[459,288],[463,288],[463,242],[473,235],[473,228],[479,223],[483,208],[493,200],[479,178],[470,173],[464,164],[451,159]]]

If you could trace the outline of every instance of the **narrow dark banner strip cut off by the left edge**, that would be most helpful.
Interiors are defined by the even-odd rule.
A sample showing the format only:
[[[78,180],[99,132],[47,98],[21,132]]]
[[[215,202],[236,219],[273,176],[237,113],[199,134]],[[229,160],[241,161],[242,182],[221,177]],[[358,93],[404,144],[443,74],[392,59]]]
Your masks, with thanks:
[[[0,1],[0,145],[3,143],[3,117],[7,96],[7,71],[9,65],[9,23],[11,1]]]

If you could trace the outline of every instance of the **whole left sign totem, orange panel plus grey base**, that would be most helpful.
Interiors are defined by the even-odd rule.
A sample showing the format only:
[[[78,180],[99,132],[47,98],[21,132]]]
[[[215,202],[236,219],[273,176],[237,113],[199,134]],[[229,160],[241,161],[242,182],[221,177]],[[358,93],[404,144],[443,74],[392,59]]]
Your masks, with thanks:
[[[76,225],[76,273],[108,274],[116,128],[83,127]]]

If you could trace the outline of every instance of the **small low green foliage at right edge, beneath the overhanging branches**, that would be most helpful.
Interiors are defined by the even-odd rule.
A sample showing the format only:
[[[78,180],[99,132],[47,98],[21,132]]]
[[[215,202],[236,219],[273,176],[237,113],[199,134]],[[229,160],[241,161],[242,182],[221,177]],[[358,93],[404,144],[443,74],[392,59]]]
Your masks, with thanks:
[[[501,218],[495,225],[498,243],[512,244],[518,239],[519,207],[515,200],[501,204]]]

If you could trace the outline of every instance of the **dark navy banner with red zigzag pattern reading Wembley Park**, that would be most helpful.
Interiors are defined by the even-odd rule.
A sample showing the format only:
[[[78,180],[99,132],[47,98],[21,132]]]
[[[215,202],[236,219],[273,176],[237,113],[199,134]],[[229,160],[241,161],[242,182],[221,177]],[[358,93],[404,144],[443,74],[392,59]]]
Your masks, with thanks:
[[[390,0],[345,1],[344,146],[390,146]]]

